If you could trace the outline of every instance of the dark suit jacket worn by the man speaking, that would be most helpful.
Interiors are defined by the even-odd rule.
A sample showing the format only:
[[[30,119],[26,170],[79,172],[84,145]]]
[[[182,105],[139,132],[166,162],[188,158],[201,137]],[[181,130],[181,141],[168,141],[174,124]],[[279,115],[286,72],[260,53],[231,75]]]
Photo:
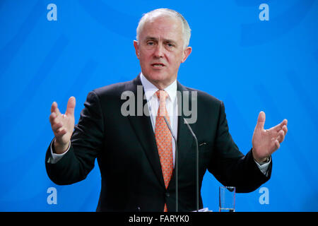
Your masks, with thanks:
[[[121,114],[126,102],[121,100],[122,93],[131,90],[137,96],[137,85],[141,85],[139,76],[90,92],[69,152],[56,164],[50,164],[48,148],[47,174],[56,184],[79,182],[93,169],[97,157],[102,177],[97,210],[163,211],[167,203],[167,209],[175,211],[175,171],[165,189],[150,117]],[[197,121],[190,126],[199,143],[199,189],[206,169],[225,186],[235,186],[237,192],[254,191],[266,182],[271,165],[266,177],[251,151],[247,155],[240,153],[228,131],[223,102],[179,82],[177,90],[197,91]],[[178,117],[177,132],[178,203],[179,210],[190,211],[196,209],[196,148],[182,117]],[[203,207],[201,195],[199,207]]]

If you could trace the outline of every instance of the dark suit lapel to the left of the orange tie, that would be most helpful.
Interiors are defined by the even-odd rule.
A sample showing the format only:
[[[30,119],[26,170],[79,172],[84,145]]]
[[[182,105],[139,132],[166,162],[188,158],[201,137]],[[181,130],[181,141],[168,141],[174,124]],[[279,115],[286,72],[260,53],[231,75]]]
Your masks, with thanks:
[[[139,86],[139,90],[137,88],[137,85],[141,85]],[[138,76],[136,79],[134,79],[133,86],[131,87],[130,90],[134,93],[135,97],[142,98],[142,102],[143,102],[142,107],[144,107],[146,106],[147,100],[143,100],[144,90],[142,88],[142,95],[141,95],[141,88],[142,88],[142,84],[141,84],[140,76]],[[135,116],[129,115],[128,118],[129,118],[129,121],[131,122],[131,126],[134,128],[134,131],[139,138],[139,142],[141,143],[143,150],[146,153],[148,161],[151,163],[151,167],[153,167],[153,171],[155,172],[155,175],[158,177],[160,184],[165,188],[165,182],[163,180],[163,173],[162,173],[162,169],[160,165],[158,148],[155,143],[155,134],[153,133],[151,118],[143,114],[143,112],[141,115],[139,115],[141,112],[138,112],[139,114],[137,114],[138,105],[140,105],[140,102],[141,102],[141,100],[137,100],[137,98],[135,98],[136,115]],[[144,108],[145,110],[148,110],[148,107],[144,107]]]

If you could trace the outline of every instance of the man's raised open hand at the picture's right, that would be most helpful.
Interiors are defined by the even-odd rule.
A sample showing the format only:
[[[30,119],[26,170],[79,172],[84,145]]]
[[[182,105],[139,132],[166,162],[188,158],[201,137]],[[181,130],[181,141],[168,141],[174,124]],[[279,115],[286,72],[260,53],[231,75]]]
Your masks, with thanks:
[[[252,153],[257,162],[264,162],[283,142],[287,133],[287,119],[271,129],[265,129],[265,113],[259,112],[257,125],[252,138]]]

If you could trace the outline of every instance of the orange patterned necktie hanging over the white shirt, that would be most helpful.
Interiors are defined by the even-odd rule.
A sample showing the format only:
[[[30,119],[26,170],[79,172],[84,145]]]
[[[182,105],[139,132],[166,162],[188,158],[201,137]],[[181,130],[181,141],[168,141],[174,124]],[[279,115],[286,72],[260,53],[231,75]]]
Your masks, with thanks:
[[[165,188],[169,185],[172,170],[173,170],[173,155],[172,155],[172,138],[167,124],[165,124],[165,116],[170,124],[170,118],[165,107],[165,100],[168,94],[165,90],[158,90],[155,93],[160,101],[158,114],[155,118],[155,141],[158,147],[160,157],[161,169],[163,170],[163,179],[165,181]],[[164,212],[167,212],[167,204],[165,203]]]

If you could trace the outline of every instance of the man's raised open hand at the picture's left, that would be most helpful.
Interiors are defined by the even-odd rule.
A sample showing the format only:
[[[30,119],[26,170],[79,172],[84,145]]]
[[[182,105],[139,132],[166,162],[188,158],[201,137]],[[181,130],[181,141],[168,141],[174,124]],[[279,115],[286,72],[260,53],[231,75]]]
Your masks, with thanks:
[[[54,149],[57,154],[64,153],[69,147],[69,141],[74,130],[75,105],[75,97],[70,97],[65,114],[61,114],[57,107],[57,102],[52,103],[49,121],[51,122],[52,131],[55,136]]]

